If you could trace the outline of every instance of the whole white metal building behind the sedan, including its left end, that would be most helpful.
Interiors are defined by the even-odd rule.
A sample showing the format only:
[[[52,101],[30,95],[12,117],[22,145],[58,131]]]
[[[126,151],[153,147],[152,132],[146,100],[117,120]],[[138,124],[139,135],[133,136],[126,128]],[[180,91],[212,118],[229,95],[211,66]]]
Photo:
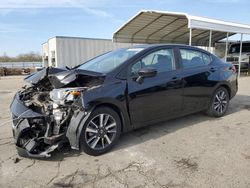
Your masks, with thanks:
[[[42,44],[43,66],[74,67],[105,52],[131,46],[109,39],[56,36]]]

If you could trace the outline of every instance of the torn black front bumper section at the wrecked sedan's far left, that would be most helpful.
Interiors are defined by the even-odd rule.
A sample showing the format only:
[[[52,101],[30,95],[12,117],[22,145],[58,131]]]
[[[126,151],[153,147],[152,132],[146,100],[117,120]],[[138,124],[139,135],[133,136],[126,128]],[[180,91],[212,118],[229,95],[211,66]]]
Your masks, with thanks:
[[[38,147],[39,138],[46,132],[46,114],[35,112],[26,107],[20,100],[20,94],[17,93],[10,106],[12,112],[12,131],[16,148],[21,156],[41,156],[45,154],[47,147],[42,149]],[[35,140],[37,138],[37,140]],[[45,152],[44,154],[41,154]]]

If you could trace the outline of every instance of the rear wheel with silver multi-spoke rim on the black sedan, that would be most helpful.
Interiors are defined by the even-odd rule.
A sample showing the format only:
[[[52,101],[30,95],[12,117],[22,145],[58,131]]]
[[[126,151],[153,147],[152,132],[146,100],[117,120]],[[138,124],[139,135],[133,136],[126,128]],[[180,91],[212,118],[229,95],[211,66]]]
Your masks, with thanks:
[[[229,93],[224,87],[215,90],[206,113],[212,117],[222,117],[229,106]]]

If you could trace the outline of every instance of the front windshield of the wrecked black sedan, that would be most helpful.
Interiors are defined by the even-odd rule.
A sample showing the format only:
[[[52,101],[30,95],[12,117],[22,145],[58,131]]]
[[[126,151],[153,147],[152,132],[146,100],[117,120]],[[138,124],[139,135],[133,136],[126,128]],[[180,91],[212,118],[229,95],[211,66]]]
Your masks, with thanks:
[[[108,52],[98,56],[78,67],[78,69],[108,73],[124,63],[126,60],[143,50],[143,48],[126,48]]]

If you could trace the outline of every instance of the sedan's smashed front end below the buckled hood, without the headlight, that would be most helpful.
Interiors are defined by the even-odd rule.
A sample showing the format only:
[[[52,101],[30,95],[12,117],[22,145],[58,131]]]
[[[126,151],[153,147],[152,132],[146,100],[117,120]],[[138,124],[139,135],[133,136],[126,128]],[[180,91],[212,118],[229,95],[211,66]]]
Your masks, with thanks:
[[[47,99],[48,93],[37,93],[29,98],[26,92],[18,92],[11,104],[18,153],[21,156],[50,157],[52,151],[67,141],[68,124],[80,105],[59,104],[59,101]]]

